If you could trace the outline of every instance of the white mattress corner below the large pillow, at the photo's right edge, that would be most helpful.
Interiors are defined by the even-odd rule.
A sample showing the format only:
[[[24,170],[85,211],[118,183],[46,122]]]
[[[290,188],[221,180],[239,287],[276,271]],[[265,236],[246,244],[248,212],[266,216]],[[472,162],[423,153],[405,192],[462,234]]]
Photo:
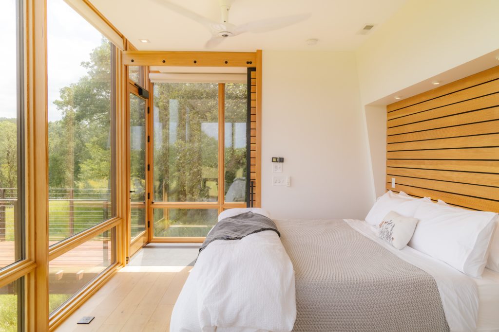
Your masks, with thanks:
[[[499,332],[499,272],[485,269],[482,278],[473,280],[479,294],[477,331]]]

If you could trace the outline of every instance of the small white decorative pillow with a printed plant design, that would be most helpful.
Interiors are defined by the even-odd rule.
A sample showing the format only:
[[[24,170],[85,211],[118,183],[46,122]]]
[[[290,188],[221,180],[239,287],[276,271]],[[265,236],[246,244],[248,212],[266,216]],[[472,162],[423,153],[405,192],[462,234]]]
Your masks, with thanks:
[[[404,217],[390,211],[378,225],[378,236],[400,250],[411,239],[417,223],[416,218]]]

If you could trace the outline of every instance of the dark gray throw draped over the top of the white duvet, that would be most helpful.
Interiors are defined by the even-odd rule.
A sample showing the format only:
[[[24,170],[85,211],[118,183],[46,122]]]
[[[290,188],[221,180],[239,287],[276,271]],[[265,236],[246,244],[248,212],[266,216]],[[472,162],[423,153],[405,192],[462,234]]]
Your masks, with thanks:
[[[215,240],[239,240],[245,236],[264,230],[273,230],[280,237],[275,223],[265,216],[252,212],[243,213],[217,222],[199,248],[201,252]]]

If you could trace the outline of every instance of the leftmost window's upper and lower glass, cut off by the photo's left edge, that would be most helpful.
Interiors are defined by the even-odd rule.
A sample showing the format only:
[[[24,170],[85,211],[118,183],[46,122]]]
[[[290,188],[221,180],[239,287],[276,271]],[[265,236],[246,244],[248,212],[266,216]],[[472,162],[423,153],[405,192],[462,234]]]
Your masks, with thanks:
[[[22,7],[6,0],[0,10],[0,281],[26,258]],[[0,331],[23,329],[24,280],[0,282]]]

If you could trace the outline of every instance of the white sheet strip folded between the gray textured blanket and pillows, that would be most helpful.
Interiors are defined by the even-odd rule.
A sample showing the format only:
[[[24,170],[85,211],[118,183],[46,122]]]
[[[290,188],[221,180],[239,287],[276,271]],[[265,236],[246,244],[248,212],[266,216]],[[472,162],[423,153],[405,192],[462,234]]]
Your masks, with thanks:
[[[365,221],[345,219],[355,230],[379,243],[397,257],[431,274],[437,282],[442,306],[452,332],[477,331],[479,286],[474,278],[409,246],[394,248],[378,237],[376,228]],[[497,313],[499,316],[499,312]]]

